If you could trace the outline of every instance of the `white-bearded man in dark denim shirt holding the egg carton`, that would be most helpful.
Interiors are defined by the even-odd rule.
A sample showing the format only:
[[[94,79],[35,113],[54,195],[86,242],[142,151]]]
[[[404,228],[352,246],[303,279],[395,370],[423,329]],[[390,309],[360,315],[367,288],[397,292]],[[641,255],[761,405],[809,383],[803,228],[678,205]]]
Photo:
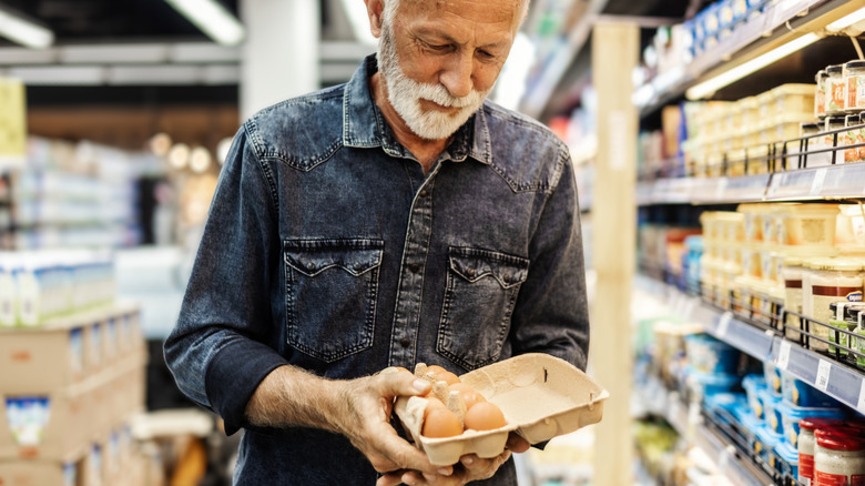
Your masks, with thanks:
[[[244,428],[237,485],[513,485],[499,457],[435,467],[391,426],[457,374],[527,352],[586,366],[568,149],[488,101],[528,0],[366,0],[378,53],[246,121],[165,357]]]

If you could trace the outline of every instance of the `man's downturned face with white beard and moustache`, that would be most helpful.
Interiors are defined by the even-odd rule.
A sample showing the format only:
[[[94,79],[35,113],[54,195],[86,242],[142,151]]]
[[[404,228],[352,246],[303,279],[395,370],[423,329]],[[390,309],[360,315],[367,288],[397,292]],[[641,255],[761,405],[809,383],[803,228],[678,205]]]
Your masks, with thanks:
[[[523,9],[520,0],[400,0],[398,12],[385,10],[380,73],[388,101],[413,132],[446,139],[480,108]]]

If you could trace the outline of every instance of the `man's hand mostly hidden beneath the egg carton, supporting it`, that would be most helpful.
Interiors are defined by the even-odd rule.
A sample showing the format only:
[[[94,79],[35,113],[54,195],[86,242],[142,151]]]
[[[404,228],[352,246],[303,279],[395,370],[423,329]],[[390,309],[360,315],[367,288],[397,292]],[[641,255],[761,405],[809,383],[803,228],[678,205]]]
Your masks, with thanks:
[[[505,450],[490,459],[481,459],[475,454],[469,454],[459,458],[459,464],[454,466],[451,474],[430,474],[418,470],[396,470],[381,476],[376,486],[396,486],[406,484],[408,486],[462,486],[472,480],[487,479],[492,477],[496,472],[510,458],[511,453],[525,453],[529,449],[529,443],[519,435],[511,433],[508,436],[508,443]]]

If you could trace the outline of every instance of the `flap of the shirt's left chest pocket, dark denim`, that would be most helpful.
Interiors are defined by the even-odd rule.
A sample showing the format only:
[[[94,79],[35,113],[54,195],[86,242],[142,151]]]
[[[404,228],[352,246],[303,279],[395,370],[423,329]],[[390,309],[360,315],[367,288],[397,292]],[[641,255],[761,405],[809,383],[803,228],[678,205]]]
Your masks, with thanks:
[[[307,276],[340,267],[358,276],[381,264],[380,240],[286,240],[285,263]]]

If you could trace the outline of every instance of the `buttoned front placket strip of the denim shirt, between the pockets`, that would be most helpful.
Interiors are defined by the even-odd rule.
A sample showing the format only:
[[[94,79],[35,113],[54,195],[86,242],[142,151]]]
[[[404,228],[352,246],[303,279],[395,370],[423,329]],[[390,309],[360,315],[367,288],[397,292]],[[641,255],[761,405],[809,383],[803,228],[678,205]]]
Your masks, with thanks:
[[[418,191],[411,206],[403,249],[401,273],[394,312],[390,336],[390,366],[411,367],[415,362],[415,343],[420,325],[421,291],[424,287],[424,264],[429,252],[432,231],[432,185],[438,166]]]

